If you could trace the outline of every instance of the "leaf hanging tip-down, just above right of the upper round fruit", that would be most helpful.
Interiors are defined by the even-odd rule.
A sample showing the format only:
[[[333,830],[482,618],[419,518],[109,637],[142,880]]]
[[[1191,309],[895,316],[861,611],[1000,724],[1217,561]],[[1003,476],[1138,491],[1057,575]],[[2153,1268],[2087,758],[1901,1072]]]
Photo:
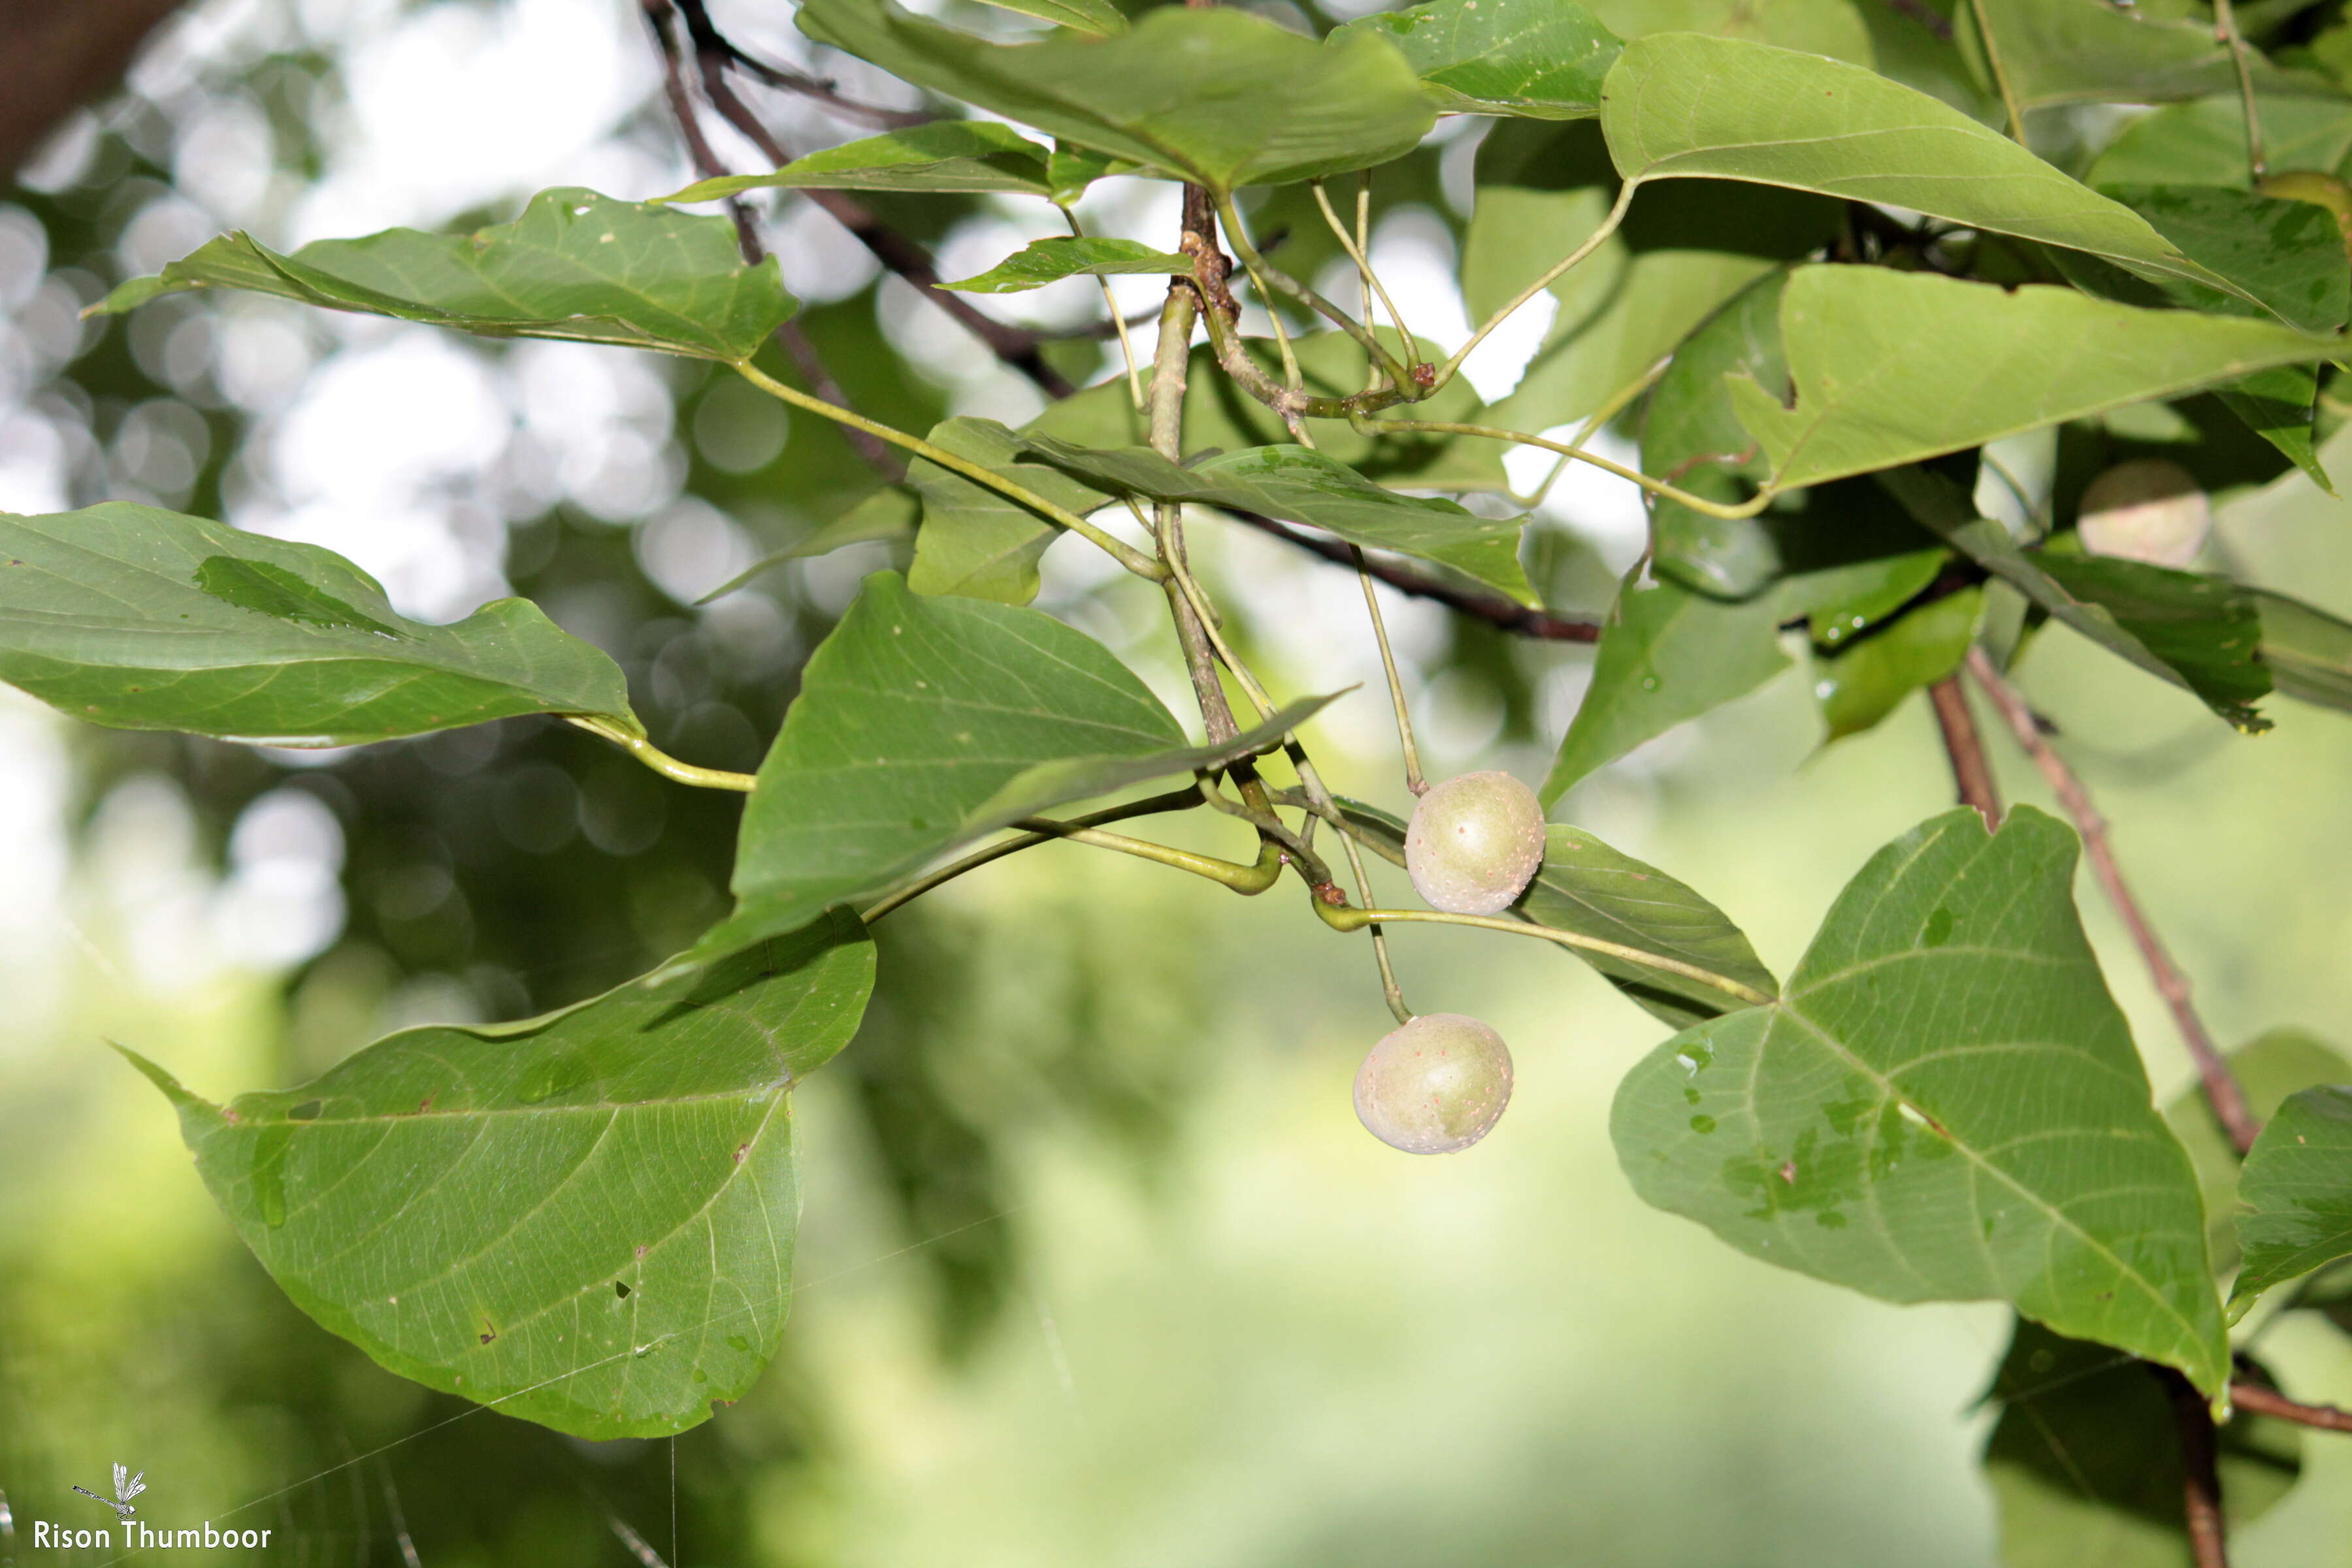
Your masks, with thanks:
[[[1543,804],[1555,804],[1597,766],[1755,691],[1785,668],[1780,607],[1771,595],[1724,602],[1670,581],[1625,588],[1592,658],[1585,701],[1538,790]]]

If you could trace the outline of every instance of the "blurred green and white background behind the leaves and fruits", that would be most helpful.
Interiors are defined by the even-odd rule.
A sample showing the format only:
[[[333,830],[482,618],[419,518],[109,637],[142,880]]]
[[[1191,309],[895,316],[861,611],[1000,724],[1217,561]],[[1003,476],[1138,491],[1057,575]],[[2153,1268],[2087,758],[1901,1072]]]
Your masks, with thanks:
[[[781,7],[715,14],[804,59]],[[807,99],[760,108],[795,148],[858,134]],[[1470,141],[1381,186],[1376,261],[1449,341]],[[802,656],[889,555],[691,599],[873,487],[830,428],[619,350],[270,301],[73,315],[223,228],[292,244],[496,219],[548,183],[684,179],[626,0],[193,7],[0,200],[0,508],[226,515],[343,550],[428,618],[529,592],[628,665],[661,745],[750,766]],[[1174,228],[1171,188],[1096,200],[1103,233]],[[950,277],[1051,230],[988,200],[887,207]],[[910,428],[1040,407],[814,209],[786,202],[767,233],[858,407]],[[1329,261],[1303,228],[1296,254]],[[1129,310],[1155,292],[1120,287]],[[990,308],[1073,327],[1098,296]],[[1479,362],[1489,393],[1536,334]],[[1051,355],[1110,374],[1094,341]],[[2333,461],[2352,473],[2352,442]],[[1531,562],[1555,609],[1597,611],[1639,548],[1637,501],[1576,475],[1543,517]],[[1345,574],[1214,524],[1195,543],[1277,686],[1376,679]],[[2303,480],[2246,491],[2216,564],[2352,611],[2352,508]],[[1148,588],[1063,550],[1042,602],[1183,710]],[[1588,654],[1395,597],[1388,614],[1432,771],[1541,778]],[[2352,1044],[2352,724],[2272,703],[2279,729],[2244,741],[2056,630],[2023,682],[2216,1032]],[[1922,703],[1823,748],[1806,686],[1799,665],[1564,811],[1703,889],[1780,973],[1860,860],[1952,792]],[[1310,738],[1336,788],[1404,804],[1376,696]],[[2013,752],[1999,766],[2042,799]],[[1294,893],[1240,903],[1051,846],[924,898],[880,929],[858,1044],[797,1091],[786,1354],[675,1443],[560,1439],[310,1326],[106,1048],[228,1095],[388,1027],[593,994],[720,912],[734,811],[546,722],[303,757],[75,729],[0,691],[0,1563],[101,1561],[35,1552],[28,1526],[106,1523],[68,1486],[103,1490],[115,1460],[148,1472],[158,1519],[270,1526],[273,1561],[322,1566],[626,1563],[614,1521],[680,1568],[1992,1561],[1973,1406],[2006,1312],[1884,1307],[1642,1208],[1606,1107],[1656,1025],[1548,947],[1397,936],[1414,1004],[1484,1016],[1519,1065],[1486,1143],[1409,1159],[1348,1098],[1388,1027],[1371,957]],[[1171,832],[1240,851],[1225,827]],[[2089,884],[2084,914],[2171,1098],[2185,1060]],[[2352,1342],[2324,1319],[2260,1349],[2300,1396],[2352,1401]],[[2352,1563],[2352,1443],[2314,1436],[2303,1486],[2237,1552]]]

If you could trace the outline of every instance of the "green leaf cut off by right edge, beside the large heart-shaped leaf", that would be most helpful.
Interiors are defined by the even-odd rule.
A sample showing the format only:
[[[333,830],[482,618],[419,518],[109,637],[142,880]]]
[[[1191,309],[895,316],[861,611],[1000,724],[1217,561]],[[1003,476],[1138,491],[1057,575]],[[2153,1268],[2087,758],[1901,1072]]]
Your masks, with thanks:
[[[2253,1140],[2237,1199],[2246,1267],[2230,1286],[2232,1319],[2270,1286],[2352,1258],[2352,1086],[2288,1095]]]

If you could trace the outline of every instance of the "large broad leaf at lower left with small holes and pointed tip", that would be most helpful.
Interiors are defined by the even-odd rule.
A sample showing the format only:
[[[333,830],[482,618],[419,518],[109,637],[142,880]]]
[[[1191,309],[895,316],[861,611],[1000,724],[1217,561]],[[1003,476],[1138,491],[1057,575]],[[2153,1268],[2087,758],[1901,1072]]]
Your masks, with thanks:
[[[741,1399],[783,1340],[788,1091],[858,1027],[849,914],[529,1023],[405,1030],[301,1088],[179,1107],[294,1305],[381,1366],[588,1439]]]

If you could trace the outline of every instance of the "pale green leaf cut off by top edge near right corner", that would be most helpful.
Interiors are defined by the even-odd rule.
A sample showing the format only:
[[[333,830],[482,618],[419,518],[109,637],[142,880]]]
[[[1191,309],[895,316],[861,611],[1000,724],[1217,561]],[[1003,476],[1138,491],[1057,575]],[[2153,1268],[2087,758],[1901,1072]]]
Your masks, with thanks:
[[[2164,103],[2237,89],[2237,66],[2213,35],[2211,12],[2169,7],[2166,16],[2161,7],[2147,14],[2147,7],[2117,9],[2107,0],[1969,0],[1955,9],[1955,24],[1980,71],[1985,45],[1976,5],[1985,9],[2018,108]],[[2260,52],[2253,54],[2253,82],[2258,92],[2328,92],[2319,78],[2281,73]]]

